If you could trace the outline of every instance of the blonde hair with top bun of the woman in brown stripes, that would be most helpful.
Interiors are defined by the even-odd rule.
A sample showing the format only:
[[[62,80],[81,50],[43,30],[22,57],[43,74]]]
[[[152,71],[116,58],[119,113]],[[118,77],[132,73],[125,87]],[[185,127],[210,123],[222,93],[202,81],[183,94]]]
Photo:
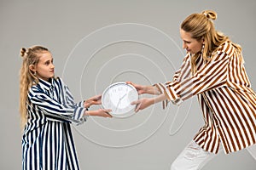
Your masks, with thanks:
[[[197,41],[204,40],[204,48],[201,52],[195,54],[191,59],[192,72],[196,71],[196,59],[200,54],[205,61],[209,61],[211,54],[224,42],[230,41],[230,38],[222,32],[216,31],[212,20],[217,19],[216,12],[212,10],[202,11],[201,14],[190,14],[183,23],[181,29],[189,32],[192,38]],[[231,42],[238,52],[241,52],[241,46]]]

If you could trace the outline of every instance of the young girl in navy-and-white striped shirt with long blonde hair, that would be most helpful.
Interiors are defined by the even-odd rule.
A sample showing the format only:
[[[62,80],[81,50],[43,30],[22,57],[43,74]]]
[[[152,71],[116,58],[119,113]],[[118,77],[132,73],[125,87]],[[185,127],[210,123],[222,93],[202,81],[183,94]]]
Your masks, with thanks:
[[[110,110],[88,111],[90,105],[101,104],[101,95],[74,103],[67,85],[55,77],[47,48],[21,48],[20,55],[22,169],[79,169],[70,124],[79,125],[88,116],[111,117]]]

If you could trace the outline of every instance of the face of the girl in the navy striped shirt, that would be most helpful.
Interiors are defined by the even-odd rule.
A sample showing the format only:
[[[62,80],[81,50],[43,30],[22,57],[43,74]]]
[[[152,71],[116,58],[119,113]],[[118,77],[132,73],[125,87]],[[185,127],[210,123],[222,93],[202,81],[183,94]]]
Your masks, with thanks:
[[[32,65],[30,69],[44,81],[49,81],[49,78],[55,76],[55,65],[53,65],[53,58],[48,51],[39,54],[38,65]]]

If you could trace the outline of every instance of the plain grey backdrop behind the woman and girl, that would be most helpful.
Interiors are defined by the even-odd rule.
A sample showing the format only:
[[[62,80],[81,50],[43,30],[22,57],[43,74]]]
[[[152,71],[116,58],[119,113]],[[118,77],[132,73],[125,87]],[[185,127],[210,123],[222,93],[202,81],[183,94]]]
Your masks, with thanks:
[[[54,55],[56,75],[64,79],[76,100],[86,99],[101,94],[111,82],[151,84],[172,78],[184,53],[180,51],[180,23],[189,14],[213,9],[218,13],[217,30],[241,44],[247,74],[255,90],[255,8],[254,0],[1,0],[0,168],[21,168],[18,112],[21,47],[35,44],[48,47]],[[120,29],[116,24],[125,27]],[[102,29],[106,26],[111,29]],[[118,39],[121,41],[113,42]],[[73,127],[73,135],[81,169],[166,170],[201,125],[201,112],[193,98],[180,107],[169,105],[165,111],[161,104],[154,105],[126,119],[90,117],[84,125]],[[247,150],[241,150],[230,155],[222,152],[203,169],[255,167],[256,161]]]

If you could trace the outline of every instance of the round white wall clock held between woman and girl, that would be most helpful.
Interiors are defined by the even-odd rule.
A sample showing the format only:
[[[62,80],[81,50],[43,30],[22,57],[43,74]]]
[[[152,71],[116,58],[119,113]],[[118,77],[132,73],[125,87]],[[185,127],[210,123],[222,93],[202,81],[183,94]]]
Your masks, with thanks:
[[[136,105],[132,101],[138,99],[137,89],[125,82],[116,82],[110,85],[102,94],[102,106],[111,109],[110,114],[116,117],[131,116],[129,113]]]

